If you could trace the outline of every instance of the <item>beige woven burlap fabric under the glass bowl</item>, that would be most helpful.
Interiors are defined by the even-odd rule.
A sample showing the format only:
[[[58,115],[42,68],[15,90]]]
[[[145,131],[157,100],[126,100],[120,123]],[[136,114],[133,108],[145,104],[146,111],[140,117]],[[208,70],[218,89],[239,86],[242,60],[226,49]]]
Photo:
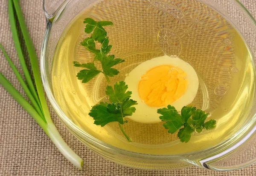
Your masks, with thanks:
[[[241,2],[256,17],[256,1]],[[20,0],[20,3],[39,57],[46,25],[42,0]],[[0,0],[0,43],[21,70],[9,27],[7,0]],[[26,53],[25,56],[27,57]],[[0,72],[24,94],[1,52]],[[0,176],[256,176],[256,165],[230,172],[215,172],[197,167],[172,171],[145,171],[123,167],[86,148],[67,131],[54,111],[50,111],[64,140],[84,159],[84,169],[79,171],[73,167],[32,117],[0,87]]]

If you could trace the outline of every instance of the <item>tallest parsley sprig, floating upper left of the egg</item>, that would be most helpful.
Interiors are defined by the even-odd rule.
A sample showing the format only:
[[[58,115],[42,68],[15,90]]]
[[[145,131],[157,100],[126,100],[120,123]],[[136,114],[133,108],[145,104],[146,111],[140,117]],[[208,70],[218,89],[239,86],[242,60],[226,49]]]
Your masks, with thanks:
[[[111,21],[95,21],[91,18],[84,19],[84,23],[87,23],[84,32],[87,34],[92,33],[92,35],[91,37],[84,39],[84,41],[81,42],[81,45],[94,54],[94,60],[93,62],[86,64],[74,61],[73,64],[75,67],[87,68],[81,70],[76,77],[79,80],[82,80],[82,83],[86,83],[96,77],[99,73],[103,73],[107,81],[110,82],[109,77],[119,74],[119,71],[112,67],[125,62],[125,60],[120,58],[115,59],[114,55],[107,55],[110,52],[112,45],[108,45],[109,39],[107,37],[107,31],[105,31],[103,26],[113,26],[113,23]],[[96,49],[95,41],[101,43],[100,49]],[[101,62],[102,69],[99,70],[96,68],[94,65],[95,61]]]

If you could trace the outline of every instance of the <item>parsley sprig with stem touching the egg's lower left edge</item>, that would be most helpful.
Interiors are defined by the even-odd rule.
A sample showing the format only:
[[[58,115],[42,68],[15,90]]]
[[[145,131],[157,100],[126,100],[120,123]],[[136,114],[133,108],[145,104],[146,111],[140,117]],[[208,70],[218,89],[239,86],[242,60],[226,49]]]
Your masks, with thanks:
[[[111,103],[100,102],[99,105],[93,106],[89,115],[93,117],[94,124],[102,127],[110,122],[118,122],[122,133],[131,142],[121,125],[127,123],[124,120],[125,116],[131,116],[135,112],[136,109],[132,106],[137,105],[137,102],[130,99],[131,91],[127,91],[127,89],[128,85],[125,85],[123,81],[116,82],[114,88],[108,85],[106,94]]]

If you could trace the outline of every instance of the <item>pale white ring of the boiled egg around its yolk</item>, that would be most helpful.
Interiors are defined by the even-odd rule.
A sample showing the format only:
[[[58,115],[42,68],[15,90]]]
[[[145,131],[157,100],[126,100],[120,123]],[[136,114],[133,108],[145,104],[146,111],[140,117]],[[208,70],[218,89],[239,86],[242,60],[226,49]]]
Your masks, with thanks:
[[[188,85],[185,93],[175,102],[171,103],[171,105],[174,106],[177,111],[181,111],[183,106],[189,105],[194,100],[199,86],[198,76],[194,68],[187,62],[177,57],[172,58],[167,55],[156,57],[138,65],[125,78],[125,83],[128,85],[128,90],[132,92],[131,99],[138,102],[138,105],[135,106],[135,113],[132,116],[127,116],[127,118],[140,123],[161,122],[159,119],[160,114],[157,114],[157,109],[163,107],[149,107],[143,102],[138,93],[138,84],[141,80],[141,75],[145,74],[149,69],[159,65],[172,65],[180,68],[187,74],[186,79],[188,81]]]

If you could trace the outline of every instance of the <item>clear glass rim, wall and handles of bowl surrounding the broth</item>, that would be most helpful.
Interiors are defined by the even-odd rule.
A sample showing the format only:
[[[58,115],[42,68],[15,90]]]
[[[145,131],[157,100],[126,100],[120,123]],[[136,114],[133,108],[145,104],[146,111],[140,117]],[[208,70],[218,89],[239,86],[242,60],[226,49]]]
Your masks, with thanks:
[[[221,142],[220,144],[204,150],[175,155],[155,155],[136,153],[123,150],[96,139],[75,125],[64,114],[53,95],[52,90],[52,60],[56,46],[64,29],[85,8],[98,3],[100,0],[44,0],[44,12],[47,19],[47,29],[44,35],[41,50],[41,75],[44,88],[49,101],[58,114],[59,119],[67,129],[84,145],[99,155],[117,162],[121,165],[148,170],[180,169],[195,165],[211,170],[235,170],[256,162],[256,104],[253,98],[253,107],[243,128]],[[149,3],[165,12],[162,8],[178,0],[138,0]],[[185,2],[185,1],[184,1]],[[186,0],[186,2],[200,3],[207,6],[224,17],[244,37],[252,58],[256,54],[256,21],[239,0]],[[178,4],[178,3],[176,3]],[[178,5],[177,5],[178,6]],[[172,5],[173,7],[173,5]],[[162,8],[162,9],[161,9]],[[189,9],[189,6],[187,7]],[[177,20],[185,17],[178,8],[173,8],[170,15]],[[168,12],[167,12],[168,13]],[[192,18],[192,23],[200,23]],[[224,41],[226,44],[232,41]],[[224,43],[224,44],[225,44]],[[181,52],[181,51],[180,51]],[[255,85],[253,85],[255,89]]]

